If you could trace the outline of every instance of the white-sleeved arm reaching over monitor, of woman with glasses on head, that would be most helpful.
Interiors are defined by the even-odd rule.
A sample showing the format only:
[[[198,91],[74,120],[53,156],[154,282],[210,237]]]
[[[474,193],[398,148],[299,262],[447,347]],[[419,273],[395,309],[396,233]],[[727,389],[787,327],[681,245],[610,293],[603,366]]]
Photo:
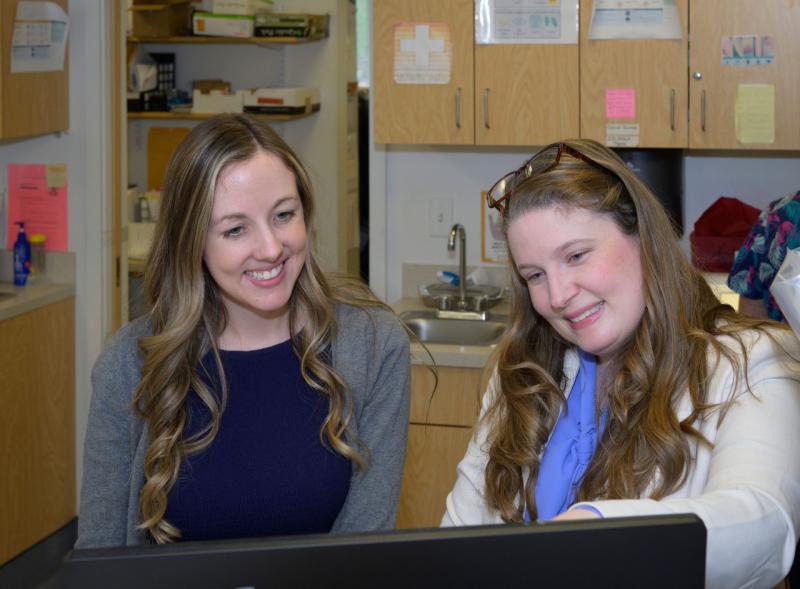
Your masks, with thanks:
[[[661,501],[586,503],[605,517],[696,513],[708,530],[707,587],[771,587],[792,564],[800,526],[800,373],[766,339],[751,351],[752,393],[738,396],[716,432],[716,414],[701,424],[714,446],[697,447],[684,487]]]

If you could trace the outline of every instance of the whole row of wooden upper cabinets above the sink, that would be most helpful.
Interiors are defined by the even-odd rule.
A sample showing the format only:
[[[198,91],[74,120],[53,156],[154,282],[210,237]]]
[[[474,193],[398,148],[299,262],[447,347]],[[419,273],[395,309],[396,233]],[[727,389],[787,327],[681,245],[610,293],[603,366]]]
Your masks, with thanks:
[[[579,46],[479,45],[472,0],[375,2],[375,141],[514,146],[580,136],[607,143],[608,125],[620,123],[638,125],[637,147],[800,149],[796,2],[676,0],[681,39],[591,40],[592,6],[580,3]],[[409,24],[447,31],[446,84],[396,79],[397,32]],[[747,51],[748,38],[773,48],[771,63],[726,63],[726,42],[742,41]],[[737,101],[743,112],[745,93],[758,90],[751,85],[774,88],[774,141],[737,137]],[[609,117],[608,90],[633,91],[633,118]],[[752,120],[770,128],[772,104],[768,95],[751,99]]]

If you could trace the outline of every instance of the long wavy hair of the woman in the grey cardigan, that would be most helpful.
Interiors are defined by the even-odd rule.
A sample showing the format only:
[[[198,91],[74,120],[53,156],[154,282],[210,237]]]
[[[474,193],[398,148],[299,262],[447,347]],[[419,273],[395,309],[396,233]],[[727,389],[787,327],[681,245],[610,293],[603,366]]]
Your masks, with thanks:
[[[140,528],[157,543],[180,537],[180,530],[164,518],[168,495],[182,459],[213,441],[225,408],[227,388],[216,342],[227,316],[219,289],[203,262],[203,250],[220,174],[258,150],[276,155],[294,173],[306,230],[313,237],[314,193],[309,176],[283,139],[253,117],[218,115],[196,126],[180,143],[166,171],[161,214],[144,276],[152,335],[139,341],[144,365],[134,396],[134,408],[145,420],[150,440],[139,495]],[[346,437],[351,392],[326,361],[325,351],[336,333],[337,302],[385,305],[355,279],[327,278],[313,248],[306,252],[289,301],[289,332],[296,334],[292,344],[301,360],[303,379],[329,401],[320,439],[357,468],[364,468],[368,451]],[[306,319],[303,326],[298,325],[301,317]],[[201,359],[209,352],[220,375],[219,391],[211,390],[198,373]],[[186,437],[187,401],[192,390],[208,407],[211,420]]]

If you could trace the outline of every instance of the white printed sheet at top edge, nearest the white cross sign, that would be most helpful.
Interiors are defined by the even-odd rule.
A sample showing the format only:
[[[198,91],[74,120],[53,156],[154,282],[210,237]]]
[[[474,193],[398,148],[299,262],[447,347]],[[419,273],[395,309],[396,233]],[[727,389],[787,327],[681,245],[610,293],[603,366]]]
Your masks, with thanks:
[[[475,0],[475,42],[577,44],[576,0]]]

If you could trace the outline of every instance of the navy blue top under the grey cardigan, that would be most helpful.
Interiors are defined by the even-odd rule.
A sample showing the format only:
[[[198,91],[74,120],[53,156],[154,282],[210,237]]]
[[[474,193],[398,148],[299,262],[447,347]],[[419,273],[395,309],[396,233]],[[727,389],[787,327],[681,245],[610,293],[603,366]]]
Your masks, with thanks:
[[[291,340],[220,356],[229,386],[220,430],[181,463],[166,520],[183,540],[329,532],[351,464],[320,441],[327,398],[303,380]],[[203,366],[218,380],[210,353]],[[188,410],[191,435],[209,412],[194,391]]]

